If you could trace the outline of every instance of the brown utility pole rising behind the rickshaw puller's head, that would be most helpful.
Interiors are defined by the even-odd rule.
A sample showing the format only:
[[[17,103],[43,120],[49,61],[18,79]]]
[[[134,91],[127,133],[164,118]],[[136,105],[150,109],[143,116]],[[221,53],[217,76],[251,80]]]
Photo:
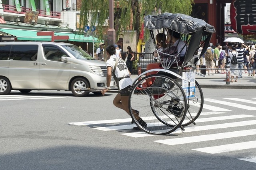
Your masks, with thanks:
[[[109,0],[109,29],[108,45],[116,43],[116,30],[114,29],[114,0]]]

